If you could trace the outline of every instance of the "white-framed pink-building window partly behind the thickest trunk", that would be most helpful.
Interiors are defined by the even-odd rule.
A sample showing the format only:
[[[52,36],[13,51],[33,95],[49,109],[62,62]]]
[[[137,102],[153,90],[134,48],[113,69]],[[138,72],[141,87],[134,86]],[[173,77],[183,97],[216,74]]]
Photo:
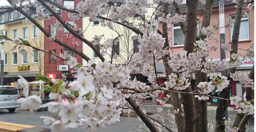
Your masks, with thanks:
[[[199,20],[197,20],[196,26],[196,36],[199,34]],[[181,26],[179,23],[172,24],[172,47],[176,46],[184,46],[185,35],[181,30]]]

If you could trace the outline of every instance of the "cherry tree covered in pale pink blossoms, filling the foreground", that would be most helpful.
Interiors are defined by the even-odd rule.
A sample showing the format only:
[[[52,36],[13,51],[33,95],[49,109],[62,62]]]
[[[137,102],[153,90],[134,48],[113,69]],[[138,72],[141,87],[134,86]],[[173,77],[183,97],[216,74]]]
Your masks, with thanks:
[[[109,0],[83,0],[80,1],[75,9],[67,9],[59,4],[58,1],[52,0],[7,0],[11,8],[19,11],[26,19],[24,23],[33,22],[49,39],[57,44],[69,49],[85,59],[87,66],[81,66],[77,63],[76,58],[68,54],[57,55],[54,52],[39,49],[31,45],[31,42],[23,39],[10,39],[5,35],[0,35],[1,39],[12,41],[18,45],[30,46],[33,49],[56,55],[64,60],[70,68],[75,69],[72,74],[76,80],[73,82],[63,82],[61,80],[49,79],[43,75],[37,75],[37,79],[41,79],[46,84],[44,89],[38,91],[51,92],[49,97],[55,99],[53,102],[41,105],[39,96],[26,96],[18,100],[21,108],[36,110],[40,107],[48,107],[48,111],[56,113],[53,117],[41,116],[45,124],[51,123],[52,131],[65,131],[66,128],[76,128],[82,126],[88,131],[94,131],[106,124],[112,124],[119,121],[121,111],[134,111],[139,120],[142,120],[150,131],[179,131],[179,132],[205,132],[213,131],[213,125],[207,124],[207,100],[209,98],[218,99],[218,107],[216,111],[216,132],[225,131],[225,125],[230,131],[245,131],[245,124],[254,113],[254,66],[248,75],[235,73],[236,67],[241,65],[243,58],[254,58],[254,43],[243,54],[238,54],[237,45],[239,40],[239,29],[241,17],[246,16],[242,12],[243,8],[252,9],[251,0],[233,0],[236,3],[235,20],[228,19],[224,27],[219,26],[219,20],[215,20],[210,24],[213,0],[187,0],[186,16],[182,14],[180,5],[182,0],[153,0],[149,3],[147,0],[120,0],[114,3]],[[198,3],[205,4],[201,30],[196,36]],[[175,15],[169,13],[169,5],[172,4],[175,9]],[[30,16],[26,13],[29,7],[33,7],[36,14]],[[64,28],[81,42],[88,45],[100,58],[95,62],[86,56],[82,51],[67,45],[51,35],[51,32],[44,29],[37,20],[49,20],[49,14],[43,12],[45,7],[57,21],[51,26],[57,30]],[[150,14],[148,9],[154,12]],[[5,10],[1,7],[1,10]],[[129,56],[129,60],[125,60],[119,65],[114,64],[116,55],[110,53],[111,61],[107,61],[104,55],[108,49],[113,48],[117,44],[116,40],[124,34],[118,34],[117,37],[108,38],[104,43],[100,44],[100,52],[93,45],[94,42],[102,39],[102,36],[95,34],[90,40],[83,37],[86,32],[77,29],[77,25],[64,21],[57,14],[59,10],[68,12],[71,20],[77,20],[80,17],[86,17],[89,20],[98,18],[101,26],[109,27],[114,30],[114,24],[123,26],[138,35],[139,51]],[[137,23],[127,21],[127,18],[138,15]],[[51,16],[51,17],[53,17]],[[158,16],[158,17],[154,17]],[[162,30],[159,30],[159,23],[162,23]],[[185,34],[184,50],[180,53],[173,53],[169,46],[168,24],[179,22],[183,33]],[[232,43],[222,43],[218,37],[213,36],[214,32],[220,28],[231,28],[234,24]],[[218,47],[210,45],[209,39],[222,43],[221,48],[226,52],[230,52],[230,60],[206,60],[209,50],[217,50]],[[73,42],[76,44],[77,42]],[[121,43],[120,43],[121,45]],[[15,46],[14,48],[16,48]],[[20,46],[20,47],[21,47]],[[26,52],[21,49],[20,53]],[[162,60],[167,75],[166,82],[159,84],[159,76],[156,73],[156,62]],[[135,64],[135,65],[129,65]],[[146,85],[144,82],[130,78],[131,71],[138,66],[142,66],[142,75],[148,77],[148,81],[152,85]],[[218,77],[216,72],[229,70],[225,76]],[[210,75],[210,81],[207,82],[207,74]],[[64,75],[65,76],[65,75]],[[29,84],[24,78],[18,80],[23,87],[24,95],[28,92]],[[192,90],[191,80],[195,79],[195,87]],[[231,89],[231,81],[239,81],[246,87],[246,95],[243,100],[238,96],[229,96]],[[215,87],[220,92],[219,97],[212,97],[208,93],[212,92]],[[168,92],[166,97],[158,96],[160,92]],[[182,102],[179,99],[181,94]],[[164,117],[158,116],[152,118],[146,115],[146,111],[140,109],[136,103],[138,98],[156,97],[161,104],[171,103],[173,108],[166,112],[171,120],[165,120]],[[171,99],[170,99],[171,98]],[[171,101],[170,101],[171,100]],[[230,119],[224,119],[227,102],[230,100],[231,105],[239,108],[237,118],[233,125]],[[32,105],[33,104],[33,105]],[[183,104],[183,107],[182,105]],[[118,109],[116,109],[118,108]],[[156,111],[162,112],[161,108]],[[76,123],[76,120],[79,123]],[[177,127],[168,127],[166,122],[176,124]],[[143,130],[142,126],[139,130]]]

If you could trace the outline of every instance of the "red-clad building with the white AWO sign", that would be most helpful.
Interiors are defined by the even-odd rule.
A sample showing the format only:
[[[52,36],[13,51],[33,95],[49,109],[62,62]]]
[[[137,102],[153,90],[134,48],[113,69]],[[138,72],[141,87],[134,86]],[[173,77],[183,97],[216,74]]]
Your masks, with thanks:
[[[63,0],[62,5],[66,8],[71,8],[74,9],[76,8],[77,3],[80,2],[79,0]],[[80,18],[79,20],[72,21],[68,18],[68,13],[64,11],[60,11],[59,16],[61,16],[65,21],[69,22],[70,24],[76,24],[77,28],[82,29],[82,19]],[[57,19],[55,16],[51,15],[50,20],[45,20],[44,21],[44,28],[47,29],[51,34],[54,34],[56,36],[56,39],[66,42],[66,44],[75,47],[76,49],[82,51],[82,42],[75,38],[74,36],[71,36],[69,38],[66,37],[66,34],[69,34],[69,32],[66,29],[63,29],[61,31],[56,30],[56,28],[51,28],[51,25],[53,23],[56,23]],[[70,34],[71,35],[71,34]],[[56,52],[56,54],[64,54],[64,51],[71,54],[71,56],[75,57],[77,59],[78,63],[82,63],[82,57],[79,55],[75,54],[72,51],[69,51],[68,49],[60,46],[59,44],[55,43],[54,41],[50,40],[48,37],[44,37],[44,47],[45,50],[53,50]],[[79,45],[72,44],[74,41],[80,41],[81,43]],[[60,66],[63,65],[63,66]],[[59,68],[58,68],[59,67]],[[70,71],[74,70],[73,68],[69,68],[67,65],[64,64],[64,61],[61,60],[60,58],[51,55],[49,53],[45,53],[45,58],[44,58],[44,75],[48,76],[50,78],[63,78],[62,74],[63,73],[70,73]],[[73,80],[73,76],[67,76],[66,80]]]

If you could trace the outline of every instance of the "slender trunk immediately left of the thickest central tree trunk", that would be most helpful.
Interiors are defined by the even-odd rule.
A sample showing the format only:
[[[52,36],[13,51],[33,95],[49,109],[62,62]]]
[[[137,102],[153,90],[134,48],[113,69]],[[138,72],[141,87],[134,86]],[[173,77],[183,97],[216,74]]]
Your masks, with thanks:
[[[164,13],[165,13],[165,15],[168,14],[168,11],[169,11],[169,3],[164,3]],[[163,22],[163,37],[166,38],[165,39],[166,40],[165,46],[164,46],[163,49],[167,48],[167,50],[169,50],[168,26],[167,26],[166,22]],[[170,66],[168,64],[168,57],[169,56],[170,56],[170,53],[166,54],[163,57],[163,63],[164,63],[164,67],[165,67],[165,70],[166,70],[166,76],[167,77],[171,73],[173,73],[173,69],[170,68]],[[175,92],[170,92],[170,95],[171,95],[171,100],[174,103],[173,104],[173,109],[174,110],[180,109],[180,111],[182,111],[179,94],[175,93]],[[178,105],[176,105],[176,104],[178,104]],[[174,114],[174,115],[175,115],[175,121],[176,121],[176,124],[177,124],[178,131],[179,132],[184,132],[184,117],[180,113],[177,113],[177,114]]]

